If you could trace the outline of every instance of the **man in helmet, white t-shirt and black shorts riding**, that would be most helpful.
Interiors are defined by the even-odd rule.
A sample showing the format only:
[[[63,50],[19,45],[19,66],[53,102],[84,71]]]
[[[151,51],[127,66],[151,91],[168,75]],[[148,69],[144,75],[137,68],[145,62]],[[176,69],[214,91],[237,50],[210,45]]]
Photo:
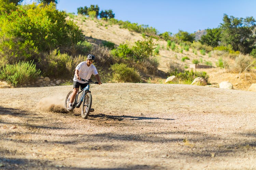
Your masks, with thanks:
[[[82,79],[88,80],[91,77],[91,74],[95,75],[97,81],[99,82],[99,85],[101,84],[100,76],[98,74],[98,71],[96,67],[93,65],[93,62],[95,60],[95,56],[92,54],[89,54],[87,56],[87,60],[85,62],[79,63],[79,65],[75,68],[75,75],[73,78],[73,93],[70,97],[70,103],[68,106],[68,110],[73,110],[73,101],[75,100],[75,95],[77,94],[79,87],[85,88],[87,86],[87,83],[84,81],[81,81]]]

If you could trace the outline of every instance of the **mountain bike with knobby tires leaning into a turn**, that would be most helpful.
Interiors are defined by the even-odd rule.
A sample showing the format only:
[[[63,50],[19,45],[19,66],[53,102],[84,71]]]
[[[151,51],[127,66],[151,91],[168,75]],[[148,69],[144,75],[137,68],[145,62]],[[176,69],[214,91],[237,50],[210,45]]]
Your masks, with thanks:
[[[81,108],[81,116],[82,118],[86,119],[89,116],[90,112],[94,112],[94,109],[91,109],[91,104],[93,102],[92,96],[91,96],[91,92],[89,91],[90,89],[90,84],[99,84],[98,82],[94,82],[91,79],[89,80],[84,80],[81,79],[84,82],[87,82],[88,85],[81,89],[80,91],[77,92],[76,96],[75,96],[75,100],[73,102],[73,109],[79,108],[82,104],[82,108]],[[71,98],[71,95],[73,93],[73,90],[71,90],[65,100],[65,108],[67,109],[69,106],[69,101]]]

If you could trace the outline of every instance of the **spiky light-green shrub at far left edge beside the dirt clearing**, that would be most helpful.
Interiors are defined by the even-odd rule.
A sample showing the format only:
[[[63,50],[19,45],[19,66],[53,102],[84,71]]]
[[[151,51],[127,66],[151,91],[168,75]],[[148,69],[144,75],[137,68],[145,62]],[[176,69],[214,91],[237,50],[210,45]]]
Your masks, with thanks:
[[[38,78],[41,71],[35,68],[33,61],[18,62],[16,64],[7,64],[1,68],[0,79],[5,80],[14,87],[34,81]]]

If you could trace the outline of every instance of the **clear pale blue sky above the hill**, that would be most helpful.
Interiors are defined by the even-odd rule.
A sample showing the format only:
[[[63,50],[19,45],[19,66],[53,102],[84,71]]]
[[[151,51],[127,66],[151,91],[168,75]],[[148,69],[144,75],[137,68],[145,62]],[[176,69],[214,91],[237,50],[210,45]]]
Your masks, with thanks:
[[[256,19],[256,0],[58,0],[57,9],[77,14],[78,7],[98,5],[115,19],[145,24],[159,33],[194,33],[217,28],[223,15]]]

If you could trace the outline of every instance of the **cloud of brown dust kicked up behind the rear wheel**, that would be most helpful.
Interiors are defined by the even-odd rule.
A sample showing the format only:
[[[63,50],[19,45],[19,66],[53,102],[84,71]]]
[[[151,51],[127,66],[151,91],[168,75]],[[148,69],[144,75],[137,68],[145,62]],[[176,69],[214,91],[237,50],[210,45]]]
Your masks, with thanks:
[[[37,108],[43,111],[50,111],[55,113],[68,113],[64,106],[65,98],[59,96],[52,96],[47,98],[42,98],[38,104]]]

